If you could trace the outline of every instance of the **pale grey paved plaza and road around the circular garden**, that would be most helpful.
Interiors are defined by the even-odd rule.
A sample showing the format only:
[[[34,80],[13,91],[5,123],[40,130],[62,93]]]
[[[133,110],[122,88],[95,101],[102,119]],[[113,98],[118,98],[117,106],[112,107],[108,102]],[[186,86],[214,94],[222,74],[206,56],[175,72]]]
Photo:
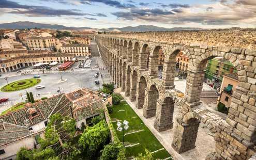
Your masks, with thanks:
[[[103,66],[103,62],[100,57],[92,58],[92,65],[94,67],[95,63],[99,64],[99,68],[105,68]],[[75,68],[78,63],[75,63],[71,69]],[[28,70],[29,68],[26,68]],[[102,74],[102,77],[94,77],[96,71],[99,71]],[[35,73],[37,74],[37,72]],[[4,86],[7,84],[6,80],[4,79],[5,76],[8,77],[8,82],[18,81],[20,79],[27,79],[32,78],[34,74],[27,74],[27,75],[20,75],[20,73],[9,73],[9,75],[2,75],[0,77],[0,86]],[[61,75],[64,82],[61,82]],[[57,90],[60,88],[61,92],[70,92],[82,87],[90,88],[93,90],[98,90],[103,83],[111,82],[111,77],[107,70],[99,70],[99,69],[91,69],[91,68],[84,68],[84,69],[73,69],[73,71],[67,70],[66,72],[58,72],[56,73],[46,73],[40,74],[40,78],[42,82],[39,85],[46,86],[42,89],[35,89],[34,87],[27,88],[26,90],[15,91],[15,92],[0,92],[0,98],[9,98],[9,101],[6,103],[0,104],[0,113],[2,111],[8,109],[12,105],[22,102],[26,98],[26,91],[33,92],[35,99],[40,99],[42,97],[51,97],[52,95],[58,94]],[[100,85],[96,85],[95,81],[99,80]],[[58,88],[59,87],[59,88]],[[20,93],[23,95],[23,99],[20,96]],[[39,95],[40,94],[40,95]]]

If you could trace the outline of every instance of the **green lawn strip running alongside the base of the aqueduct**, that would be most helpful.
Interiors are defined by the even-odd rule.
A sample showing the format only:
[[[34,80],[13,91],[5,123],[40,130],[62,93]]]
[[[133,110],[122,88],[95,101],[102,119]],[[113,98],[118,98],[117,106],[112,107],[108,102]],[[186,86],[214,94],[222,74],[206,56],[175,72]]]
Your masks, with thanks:
[[[113,113],[110,114],[112,121],[127,120],[129,122],[129,129],[126,133],[131,133],[139,130],[144,130],[137,133],[125,135],[125,146],[140,143],[139,145],[126,148],[126,157],[132,159],[139,153],[145,153],[145,149],[150,152],[162,149],[163,146],[157,140],[157,138],[149,131],[147,126],[142,122],[139,116],[132,110],[126,101],[121,102],[118,105],[113,106]],[[117,128],[117,122],[113,122],[115,129]],[[123,132],[116,131],[118,138],[123,141]],[[165,159],[171,157],[171,155],[163,148],[158,152],[153,153],[155,159]],[[171,158],[169,158],[171,159]]]

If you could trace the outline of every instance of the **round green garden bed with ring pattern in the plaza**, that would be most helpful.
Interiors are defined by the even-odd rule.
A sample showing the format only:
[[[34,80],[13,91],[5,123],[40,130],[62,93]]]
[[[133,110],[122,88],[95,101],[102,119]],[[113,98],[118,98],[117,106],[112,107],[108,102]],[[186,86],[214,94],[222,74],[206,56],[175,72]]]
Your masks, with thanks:
[[[15,81],[15,82],[9,83],[9,85],[3,86],[1,88],[1,91],[3,92],[18,91],[18,90],[35,86],[40,82],[41,82],[41,79],[39,78],[22,79],[20,81]]]

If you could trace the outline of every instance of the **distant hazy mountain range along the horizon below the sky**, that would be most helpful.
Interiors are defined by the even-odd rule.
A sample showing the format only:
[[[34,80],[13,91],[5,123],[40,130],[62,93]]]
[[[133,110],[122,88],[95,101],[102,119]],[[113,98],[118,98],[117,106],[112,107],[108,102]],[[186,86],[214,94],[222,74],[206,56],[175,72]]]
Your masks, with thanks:
[[[12,23],[2,23],[0,28],[8,29],[26,29],[26,28],[47,28],[47,29],[97,29],[90,27],[67,27],[64,25],[57,24],[43,24],[34,22],[12,22]],[[190,27],[175,27],[175,28],[163,28],[154,25],[139,25],[139,26],[127,26],[123,28],[106,28],[99,29],[100,31],[177,31],[177,30],[202,30],[202,28],[190,28]]]

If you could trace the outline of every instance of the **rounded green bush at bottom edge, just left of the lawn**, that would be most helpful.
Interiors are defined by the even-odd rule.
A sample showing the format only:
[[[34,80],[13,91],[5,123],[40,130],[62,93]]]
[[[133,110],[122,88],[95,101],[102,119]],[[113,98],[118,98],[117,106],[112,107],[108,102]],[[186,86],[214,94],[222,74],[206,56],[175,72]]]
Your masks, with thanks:
[[[118,143],[110,143],[109,145],[104,146],[104,149],[100,156],[100,160],[115,160],[115,159],[117,159],[119,150],[122,147],[123,146],[118,145]]]

